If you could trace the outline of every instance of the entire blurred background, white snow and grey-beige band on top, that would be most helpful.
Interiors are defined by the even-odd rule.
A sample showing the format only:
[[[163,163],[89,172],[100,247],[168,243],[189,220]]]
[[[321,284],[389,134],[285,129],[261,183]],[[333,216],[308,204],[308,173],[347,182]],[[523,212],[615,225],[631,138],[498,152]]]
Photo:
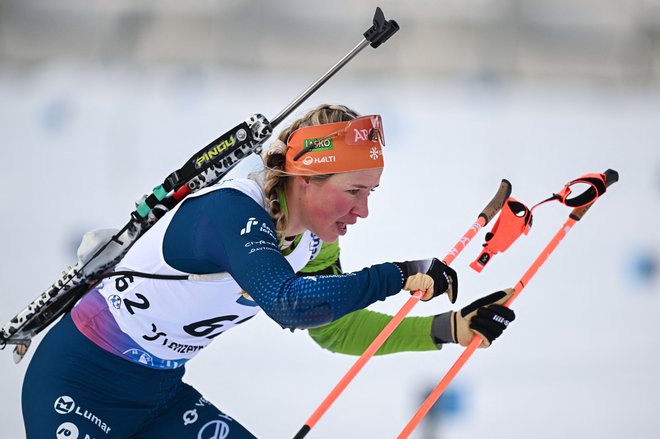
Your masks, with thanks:
[[[361,40],[378,5],[401,31],[289,118],[323,102],[383,116],[386,170],[342,241],[346,270],[444,257],[502,178],[531,205],[588,172],[621,177],[413,437],[658,437],[658,0],[2,0],[0,322],[75,261],[83,232],[122,226],[198,149],[252,113],[274,117]],[[481,274],[468,267],[478,235],[454,264],[458,305],[513,286],[568,213],[537,209],[529,236]],[[372,309],[394,313],[399,296]],[[447,309],[439,298],[412,314]],[[309,437],[396,437],[460,353],[372,359]],[[24,436],[29,357],[0,355],[2,438]],[[261,315],[187,380],[258,437],[291,437],[354,361]]]

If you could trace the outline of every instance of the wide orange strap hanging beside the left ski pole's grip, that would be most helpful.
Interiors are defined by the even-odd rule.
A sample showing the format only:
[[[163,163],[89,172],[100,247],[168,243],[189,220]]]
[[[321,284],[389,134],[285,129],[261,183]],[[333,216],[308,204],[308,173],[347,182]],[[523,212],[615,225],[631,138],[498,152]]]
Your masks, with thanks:
[[[486,233],[484,249],[470,267],[481,272],[494,255],[508,249],[523,233],[527,235],[531,227],[531,210],[515,198],[509,197],[502,206],[493,229]]]

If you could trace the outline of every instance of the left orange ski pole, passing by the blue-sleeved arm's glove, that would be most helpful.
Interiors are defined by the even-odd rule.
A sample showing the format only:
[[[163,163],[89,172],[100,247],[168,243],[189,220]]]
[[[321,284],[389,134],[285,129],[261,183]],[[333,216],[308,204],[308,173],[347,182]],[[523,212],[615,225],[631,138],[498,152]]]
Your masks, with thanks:
[[[508,180],[502,180],[500,187],[493,197],[493,199],[486,205],[486,207],[479,214],[477,221],[468,229],[467,232],[458,240],[458,242],[452,247],[447,256],[443,259],[446,265],[450,265],[454,259],[463,251],[467,244],[472,240],[472,238],[488,224],[488,222],[500,211],[504,201],[509,198],[511,194],[511,183]],[[304,438],[309,431],[314,428],[314,425],[321,419],[325,412],[330,408],[330,406],[335,402],[339,395],[346,389],[350,382],[355,378],[355,376],[360,372],[362,367],[374,356],[376,351],[385,343],[385,340],[394,332],[394,330],[399,326],[403,318],[410,312],[410,310],[419,302],[423,296],[422,291],[416,291],[408,301],[401,307],[401,309],[392,317],[392,320],[383,328],[383,330],[376,336],[373,342],[367,347],[367,349],[362,353],[360,358],[353,364],[353,366],[346,372],[339,383],[330,391],[328,396],[321,402],[318,408],[312,413],[312,415],[307,419],[305,425],[296,433],[294,439]]]

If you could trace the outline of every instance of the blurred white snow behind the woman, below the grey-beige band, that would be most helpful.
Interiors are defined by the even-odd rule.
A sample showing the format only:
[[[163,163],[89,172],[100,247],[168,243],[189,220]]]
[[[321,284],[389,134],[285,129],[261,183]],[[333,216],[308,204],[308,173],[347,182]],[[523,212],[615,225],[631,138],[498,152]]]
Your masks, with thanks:
[[[502,178],[531,205],[582,174],[620,173],[514,303],[507,333],[452,382],[449,409],[413,437],[658,437],[660,89],[360,73],[396,44],[365,50],[295,113],[330,102],[383,116],[386,170],[369,218],[342,240],[346,271],[444,257]],[[326,52],[327,66],[351,47]],[[0,323],[75,261],[84,231],[122,226],[133,200],[190,155],[252,113],[272,118],[324,71],[0,65]],[[259,164],[252,157],[232,175]],[[537,209],[529,236],[481,274],[468,267],[484,239],[477,235],[454,263],[457,305],[513,286],[569,212],[558,203]],[[371,308],[395,313],[406,299]],[[440,297],[411,314],[449,306]],[[460,353],[373,358],[308,437],[396,437]],[[0,438],[24,437],[30,354],[14,365],[11,349],[0,353]],[[258,437],[292,437],[355,359],[261,314],[190,362],[186,381]]]

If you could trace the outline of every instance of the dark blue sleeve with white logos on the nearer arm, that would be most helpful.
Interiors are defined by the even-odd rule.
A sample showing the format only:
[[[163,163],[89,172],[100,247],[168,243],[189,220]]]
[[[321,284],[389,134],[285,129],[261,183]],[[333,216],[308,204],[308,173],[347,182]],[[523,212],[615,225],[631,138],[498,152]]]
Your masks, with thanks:
[[[401,291],[403,275],[392,263],[299,277],[279,250],[274,230],[252,198],[220,189],[181,206],[168,227],[163,253],[169,264],[186,272],[229,272],[268,316],[291,329],[329,323]]]

